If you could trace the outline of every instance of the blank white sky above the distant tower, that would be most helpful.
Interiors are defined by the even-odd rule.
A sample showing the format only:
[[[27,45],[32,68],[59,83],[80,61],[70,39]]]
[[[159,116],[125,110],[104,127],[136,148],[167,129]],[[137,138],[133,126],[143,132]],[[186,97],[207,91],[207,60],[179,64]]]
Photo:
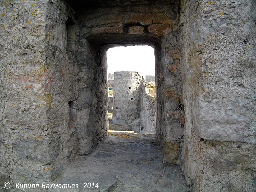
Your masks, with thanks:
[[[155,55],[151,46],[113,47],[107,51],[108,74],[115,71],[140,71],[155,75]]]

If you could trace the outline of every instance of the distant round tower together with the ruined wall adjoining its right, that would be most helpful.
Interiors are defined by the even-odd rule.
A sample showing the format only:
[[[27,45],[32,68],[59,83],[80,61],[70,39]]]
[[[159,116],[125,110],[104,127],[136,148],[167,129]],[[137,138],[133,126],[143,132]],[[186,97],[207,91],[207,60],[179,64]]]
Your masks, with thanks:
[[[143,133],[156,133],[155,94],[149,94],[147,84],[141,72],[114,73],[113,124],[129,125],[136,133],[145,127]]]

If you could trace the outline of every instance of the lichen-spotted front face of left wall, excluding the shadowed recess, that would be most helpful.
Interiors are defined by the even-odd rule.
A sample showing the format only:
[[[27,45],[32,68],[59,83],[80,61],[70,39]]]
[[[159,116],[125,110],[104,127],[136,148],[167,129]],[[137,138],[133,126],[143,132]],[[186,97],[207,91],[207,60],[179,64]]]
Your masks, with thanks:
[[[61,2],[58,6],[65,7]],[[59,130],[67,126],[68,111],[56,121],[52,116],[60,112],[55,106],[68,108],[68,102],[58,98],[63,76],[49,58],[55,47],[55,67],[67,62],[60,58],[65,25],[54,23],[57,30],[51,28],[53,15],[62,22],[66,13],[54,11],[49,18],[52,9],[56,7],[46,1],[1,2],[1,182],[51,180],[60,172],[59,163],[65,164],[62,157],[68,156],[62,148],[73,149],[73,141],[61,145],[69,132],[62,135]],[[64,41],[56,41],[55,33]]]

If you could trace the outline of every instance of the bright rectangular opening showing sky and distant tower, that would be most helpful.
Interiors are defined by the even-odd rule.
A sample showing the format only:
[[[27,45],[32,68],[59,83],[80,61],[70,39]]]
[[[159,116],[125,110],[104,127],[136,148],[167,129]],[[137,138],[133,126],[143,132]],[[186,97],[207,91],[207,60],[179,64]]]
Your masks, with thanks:
[[[109,48],[107,65],[109,132],[156,134],[154,48]]]

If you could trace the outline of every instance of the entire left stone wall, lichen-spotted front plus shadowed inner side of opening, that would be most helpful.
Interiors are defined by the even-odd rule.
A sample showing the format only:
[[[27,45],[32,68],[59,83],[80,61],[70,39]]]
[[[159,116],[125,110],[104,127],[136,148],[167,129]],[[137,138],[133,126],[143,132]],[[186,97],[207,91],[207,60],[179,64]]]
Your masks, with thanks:
[[[105,135],[106,56],[81,58],[97,53],[74,13],[63,1],[1,6],[1,182],[53,180]]]

